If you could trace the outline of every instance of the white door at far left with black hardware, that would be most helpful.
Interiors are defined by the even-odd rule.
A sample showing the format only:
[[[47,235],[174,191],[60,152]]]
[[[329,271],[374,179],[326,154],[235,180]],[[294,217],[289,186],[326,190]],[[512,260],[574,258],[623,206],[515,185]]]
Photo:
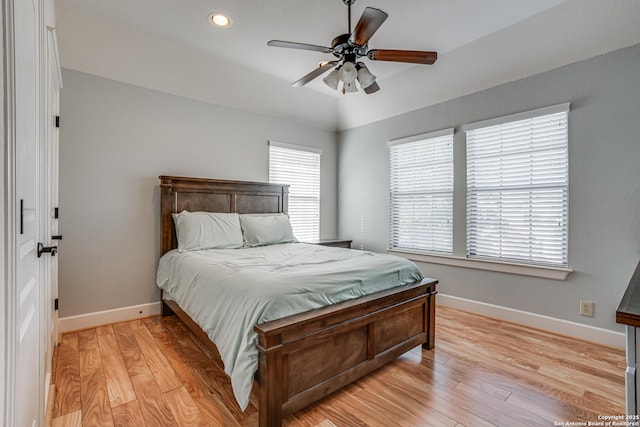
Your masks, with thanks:
[[[41,154],[40,127],[40,5],[37,0],[14,0],[13,43],[14,68],[9,72],[13,82],[13,105],[8,126],[14,129],[13,153],[16,210],[15,230],[11,230],[15,254],[15,286],[12,294],[12,337],[10,351],[13,360],[9,373],[13,393],[11,425],[32,427],[43,424],[43,371],[44,348],[41,345],[41,274],[37,244],[40,241],[41,222]],[[8,61],[10,62],[10,61]],[[13,111],[11,111],[13,110]],[[10,389],[11,390],[11,389]]]

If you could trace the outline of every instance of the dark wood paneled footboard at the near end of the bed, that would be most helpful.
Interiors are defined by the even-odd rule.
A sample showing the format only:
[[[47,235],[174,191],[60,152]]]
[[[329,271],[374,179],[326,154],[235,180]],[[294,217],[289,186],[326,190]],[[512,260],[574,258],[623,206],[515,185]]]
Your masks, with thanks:
[[[257,325],[260,425],[282,418],[392,361],[433,348],[437,281]]]

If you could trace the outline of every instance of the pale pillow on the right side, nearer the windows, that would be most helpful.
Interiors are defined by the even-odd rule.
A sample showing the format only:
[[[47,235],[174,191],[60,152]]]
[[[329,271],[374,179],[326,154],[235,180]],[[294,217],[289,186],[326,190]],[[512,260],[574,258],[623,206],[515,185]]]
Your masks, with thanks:
[[[240,215],[240,226],[245,246],[265,246],[298,241],[293,235],[289,216],[285,214]]]

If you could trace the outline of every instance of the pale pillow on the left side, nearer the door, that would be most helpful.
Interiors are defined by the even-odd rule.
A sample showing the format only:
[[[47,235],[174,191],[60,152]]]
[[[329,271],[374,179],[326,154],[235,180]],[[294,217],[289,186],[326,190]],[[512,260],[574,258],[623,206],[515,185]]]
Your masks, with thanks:
[[[241,248],[242,229],[237,213],[188,212],[173,214],[178,252]]]

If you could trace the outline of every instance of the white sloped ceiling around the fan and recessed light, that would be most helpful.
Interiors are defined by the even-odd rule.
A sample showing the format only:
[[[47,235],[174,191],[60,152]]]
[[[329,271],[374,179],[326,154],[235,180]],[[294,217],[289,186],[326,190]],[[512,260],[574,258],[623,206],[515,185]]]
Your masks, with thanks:
[[[389,18],[370,48],[436,50],[432,66],[368,61],[381,90],[342,95],[299,79],[347,32],[341,0],[57,0],[62,66],[337,130],[412,111],[640,43],[639,0],[358,0]],[[220,11],[233,24],[215,28]]]

